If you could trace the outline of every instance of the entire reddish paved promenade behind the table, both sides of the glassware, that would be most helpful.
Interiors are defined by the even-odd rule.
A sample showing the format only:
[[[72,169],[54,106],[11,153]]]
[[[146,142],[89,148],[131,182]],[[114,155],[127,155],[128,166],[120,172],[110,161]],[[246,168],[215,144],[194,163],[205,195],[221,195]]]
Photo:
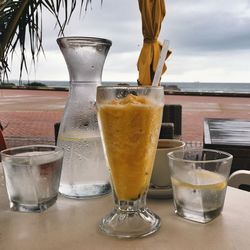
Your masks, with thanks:
[[[8,147],[54,144],[54,124],[63,115],[67,91],[0,89],[0,121]],[[203,141],[204,118],[250,117],[247,97],[165,95],[166,104],[182,106],[182,139]]]

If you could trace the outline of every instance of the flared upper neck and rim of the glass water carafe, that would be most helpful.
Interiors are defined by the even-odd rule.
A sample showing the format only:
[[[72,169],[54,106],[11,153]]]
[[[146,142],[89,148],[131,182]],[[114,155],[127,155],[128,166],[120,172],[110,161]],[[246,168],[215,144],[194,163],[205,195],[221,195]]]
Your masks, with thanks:
[[[57,43],[66,61],[71,84],[101,83],[111,41],[94,37],[62,37]]]

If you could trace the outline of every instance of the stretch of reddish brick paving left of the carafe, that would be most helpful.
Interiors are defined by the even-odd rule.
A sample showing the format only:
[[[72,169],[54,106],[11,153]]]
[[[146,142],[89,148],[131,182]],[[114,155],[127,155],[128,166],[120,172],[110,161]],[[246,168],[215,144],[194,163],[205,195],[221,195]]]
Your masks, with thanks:
[[[7,146],[54,143],[68,92],[0,89],[0,121]]]

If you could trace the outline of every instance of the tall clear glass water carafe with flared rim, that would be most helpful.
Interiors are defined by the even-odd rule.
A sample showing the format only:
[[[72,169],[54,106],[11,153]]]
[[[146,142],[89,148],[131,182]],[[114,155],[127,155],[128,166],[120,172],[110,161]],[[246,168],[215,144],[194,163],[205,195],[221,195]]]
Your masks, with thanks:
[[[96,115],[96,87],[111,41],[94,37],[62,37],[70,90],[57,145],[64,148],[59,191],[69,198],[90,198],[111,191]]]

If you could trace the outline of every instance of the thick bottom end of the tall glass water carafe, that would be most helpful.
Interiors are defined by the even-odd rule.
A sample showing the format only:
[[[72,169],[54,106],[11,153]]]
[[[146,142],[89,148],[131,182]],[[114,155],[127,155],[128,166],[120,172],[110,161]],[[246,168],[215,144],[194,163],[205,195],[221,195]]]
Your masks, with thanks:
[[[111,193],[111,186],[109,183],[100,185],[60,185],[59,193],[71,199],[89,199]]]

